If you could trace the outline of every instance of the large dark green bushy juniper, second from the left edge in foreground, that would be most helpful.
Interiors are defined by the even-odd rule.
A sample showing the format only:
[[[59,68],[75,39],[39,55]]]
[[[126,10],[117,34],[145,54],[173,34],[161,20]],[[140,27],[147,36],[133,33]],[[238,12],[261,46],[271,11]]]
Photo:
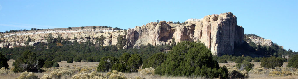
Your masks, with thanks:
[[[44,62],[39,62],[36,60],[35,56],[35,53],[30,50],[26,50],[18,59],[15,60],[13,72],[41,72],[42,63]]]

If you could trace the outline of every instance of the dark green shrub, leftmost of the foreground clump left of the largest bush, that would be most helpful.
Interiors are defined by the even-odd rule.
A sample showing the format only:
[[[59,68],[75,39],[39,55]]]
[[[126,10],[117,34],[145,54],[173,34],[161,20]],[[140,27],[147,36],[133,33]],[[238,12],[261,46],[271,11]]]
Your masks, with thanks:
[[[115,57],[106,56],[100,59],[98,67],[96,68],[98,72],[108,72],[112,66],[117,63],[119,60]]]

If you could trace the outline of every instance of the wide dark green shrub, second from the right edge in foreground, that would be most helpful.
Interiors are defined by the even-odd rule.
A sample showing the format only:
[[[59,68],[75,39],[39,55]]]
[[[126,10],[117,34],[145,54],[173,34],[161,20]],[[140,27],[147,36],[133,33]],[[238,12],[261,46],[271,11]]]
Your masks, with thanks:
[[[277,66],[278,67],[283,66],[283,60],[281,58],[271,56],[271,57],[265,57],[261,61],[261,67],[274,69]]]

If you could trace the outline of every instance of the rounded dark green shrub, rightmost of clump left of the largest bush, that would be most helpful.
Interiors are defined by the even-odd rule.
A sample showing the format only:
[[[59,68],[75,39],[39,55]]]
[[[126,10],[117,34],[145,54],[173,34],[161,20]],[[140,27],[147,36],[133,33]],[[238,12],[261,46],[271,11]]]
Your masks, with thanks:
[[[137,72],[142,63],[142,58],[138,54],[132,55],[127,61],[129,71]]]

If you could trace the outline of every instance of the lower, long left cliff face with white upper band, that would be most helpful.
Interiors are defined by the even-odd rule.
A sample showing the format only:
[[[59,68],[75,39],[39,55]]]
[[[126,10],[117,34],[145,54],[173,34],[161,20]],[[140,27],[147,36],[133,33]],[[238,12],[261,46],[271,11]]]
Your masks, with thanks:
[[[72,29],[44,29],[36,31],[21,31],[16,33],[5,33],[1,35],[1,48],[13,48],[15,46],[25,46],[27,37],[31,38],[31,42],[28,45],[36,45],[37,43],[44,42],[47,43],[45,37],[48,34],[52,34],[54,38],[58,37],[60,34],[64,39],[70,38],[71,41],[77,41],[79,43],[86,42],[90,40],[95,42],[97,37],[100,37],[103,34],[105,39],[105,45],[116,45],[117,36],[119,34],[125,35],[126,31],[124,30],[114,30],[114,29],[92,29],[92,27],[85,27],[85,29],[80,29],[79,27]],[[74,39],[74,38],[77,39]]]

